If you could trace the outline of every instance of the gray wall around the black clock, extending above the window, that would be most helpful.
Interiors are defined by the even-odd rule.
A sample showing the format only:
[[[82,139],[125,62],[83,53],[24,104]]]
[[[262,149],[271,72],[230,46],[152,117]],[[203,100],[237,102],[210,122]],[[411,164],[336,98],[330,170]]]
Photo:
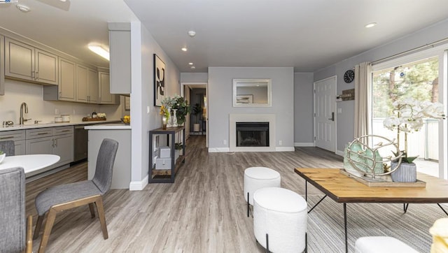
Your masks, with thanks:
[[[374,62],[385,57],[405,52],[422,45],[430,44],[448,38],[448,20],[444,20],[430,27],[426,27],[414,34],[409,34],[403,38],[391,41],[386,45],[373,48],[360,55],[337,62],[326,68],[314,72],[314,81],[329,78],[337,75],[337,94],[341,94],[343,89],[353,89],[354,82],[349,84],[344,82],[345,71],[353,68],[360,62]],[[344,145],[353,140],[354,126],[354,101],[337,102],[337,108],[342,109],[342,113],[337,113],[337,152],[343,152]]]

